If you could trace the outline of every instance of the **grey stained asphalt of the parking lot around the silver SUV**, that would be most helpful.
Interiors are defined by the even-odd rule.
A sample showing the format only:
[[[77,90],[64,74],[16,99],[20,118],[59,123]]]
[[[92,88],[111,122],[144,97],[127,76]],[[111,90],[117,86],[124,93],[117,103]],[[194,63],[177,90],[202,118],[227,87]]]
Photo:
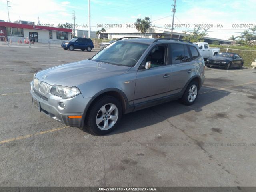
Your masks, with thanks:
[[[96,52],[0,47],[0,186],[255,186],[256,70],[206,68],[194,105],[126,114],[106,136],[32,108],[35,72]]]

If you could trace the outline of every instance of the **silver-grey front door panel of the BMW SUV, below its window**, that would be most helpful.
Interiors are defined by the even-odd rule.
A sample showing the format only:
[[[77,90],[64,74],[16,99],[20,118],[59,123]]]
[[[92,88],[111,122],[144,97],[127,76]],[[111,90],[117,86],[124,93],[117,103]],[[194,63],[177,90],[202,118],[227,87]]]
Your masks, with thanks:
[[[171,66],[169,65],[154,67],[149,70],[138,70],[134,104],[166,96],[170,90],[170,75]]]

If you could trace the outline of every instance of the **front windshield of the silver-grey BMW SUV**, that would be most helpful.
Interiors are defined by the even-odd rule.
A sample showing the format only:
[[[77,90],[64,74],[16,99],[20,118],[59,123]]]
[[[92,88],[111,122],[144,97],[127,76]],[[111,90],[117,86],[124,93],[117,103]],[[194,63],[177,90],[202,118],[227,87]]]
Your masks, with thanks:
[[[134,66],[148,46],[148,44],[135,42],[113,42],[96,54],[92,60],[121,66]]]

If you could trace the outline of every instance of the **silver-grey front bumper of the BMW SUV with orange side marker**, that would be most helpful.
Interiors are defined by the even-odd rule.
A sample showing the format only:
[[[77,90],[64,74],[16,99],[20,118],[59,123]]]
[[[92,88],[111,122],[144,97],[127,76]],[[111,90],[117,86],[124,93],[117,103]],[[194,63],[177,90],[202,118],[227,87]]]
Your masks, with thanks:
[[[38,103],[36,107],[39,112],[43,112],[50,118],[62,122],[67,126],[82,127],[86,105],[91,98],[84,98],[82,94],[69,99],[62,99],[52,94],[43,95],[34,89],[32,82],[30,85],[32,100],[36,101],[34,101],[34,103]],[[65,104],[64,109],[59,108],[60,102]],[[69,116],[81,116],[81,118],[69,118]]]

